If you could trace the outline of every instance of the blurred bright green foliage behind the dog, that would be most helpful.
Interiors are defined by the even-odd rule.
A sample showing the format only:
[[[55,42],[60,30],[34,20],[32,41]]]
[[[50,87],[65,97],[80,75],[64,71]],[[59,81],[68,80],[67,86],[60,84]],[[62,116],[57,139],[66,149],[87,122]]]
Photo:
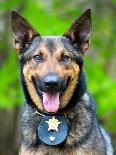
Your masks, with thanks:
[[[85,9],[92,9],[91,47],[85,56],[88,89],[101,123],[116,135],[116,1],[0,1],[0,108],[23,103],[18,57],[12,48],[10,11],[19,11],[42,35],[61,35]]]

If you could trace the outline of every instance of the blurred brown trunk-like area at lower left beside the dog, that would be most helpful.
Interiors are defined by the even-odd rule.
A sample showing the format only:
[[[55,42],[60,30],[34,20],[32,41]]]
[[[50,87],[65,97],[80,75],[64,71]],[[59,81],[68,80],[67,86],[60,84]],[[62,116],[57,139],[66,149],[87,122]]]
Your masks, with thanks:
[[[0,110],[0,155],[18,155],[19,108]]]

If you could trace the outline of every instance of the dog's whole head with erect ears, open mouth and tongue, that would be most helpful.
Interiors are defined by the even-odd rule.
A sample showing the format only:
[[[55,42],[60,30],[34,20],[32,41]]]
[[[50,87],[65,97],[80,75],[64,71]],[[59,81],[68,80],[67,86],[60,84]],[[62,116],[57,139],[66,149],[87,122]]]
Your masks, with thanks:
[[[89,47],[90,9],[63,36],[42,37],[14,11],[11,25],[23,80],[33,103],[47,112],[64,108],[78,84],[82,58]]]

